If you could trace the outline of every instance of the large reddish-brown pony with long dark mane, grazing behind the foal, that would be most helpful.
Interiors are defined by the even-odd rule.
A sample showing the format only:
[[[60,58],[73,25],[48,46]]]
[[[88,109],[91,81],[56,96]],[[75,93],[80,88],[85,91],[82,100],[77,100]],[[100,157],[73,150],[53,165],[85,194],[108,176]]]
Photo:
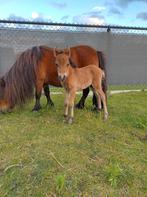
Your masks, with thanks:
[[[23,104],[33,96],[35,87],[35,106],[33,110],[39,110],[40,97],[44,89],[47,103],[53,105],[50,98],[48,85],[60,87],[53,48],[47,46],[35,46],[20,54],[11,69],[0,79],[0,111],[13,108],[16,104]],[[64,50],[60,50],[62,53]],[[105,70],[102,52],[86,45],[71,47],[71,64],[84,67],[95,64]],[[106,92],[106,81],[103,82],[103,90]],[[83,95],[77,104],[78,108],[84,107],[84,102],[89,93],[89,88],[83,90]],[[93,99],[93,103],[95,99]]]

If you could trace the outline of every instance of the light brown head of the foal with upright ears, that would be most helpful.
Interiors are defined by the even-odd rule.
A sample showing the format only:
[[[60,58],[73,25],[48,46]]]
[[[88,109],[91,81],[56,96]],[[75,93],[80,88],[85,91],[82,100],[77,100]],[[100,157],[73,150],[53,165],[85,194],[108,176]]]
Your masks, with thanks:
[[[55,64],[57,66],[58,78],[64,81],[69,73],[70,66],[70,49],[57,50],[54,49]]]

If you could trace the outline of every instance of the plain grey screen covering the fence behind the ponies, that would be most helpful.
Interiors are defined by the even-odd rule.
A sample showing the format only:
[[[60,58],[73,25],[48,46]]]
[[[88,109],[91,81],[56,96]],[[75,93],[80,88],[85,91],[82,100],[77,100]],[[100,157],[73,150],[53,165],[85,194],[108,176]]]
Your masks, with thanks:
[[[147,84],[147,36],[130,33],[2,28],[0,75],[13,65],[17,53],[32,46],[64,48],[78,44],[87,44],[104,52],[109,84]]]

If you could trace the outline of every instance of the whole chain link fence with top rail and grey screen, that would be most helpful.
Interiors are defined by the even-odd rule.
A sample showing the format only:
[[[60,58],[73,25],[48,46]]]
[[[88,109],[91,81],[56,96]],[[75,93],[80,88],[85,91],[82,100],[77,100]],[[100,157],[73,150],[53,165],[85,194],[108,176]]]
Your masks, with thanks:
[[[0,75],[18,53],[37,45],[87,44],[103,51],[108,83],[123,89],[146,88],[147,28],[0,20]]]

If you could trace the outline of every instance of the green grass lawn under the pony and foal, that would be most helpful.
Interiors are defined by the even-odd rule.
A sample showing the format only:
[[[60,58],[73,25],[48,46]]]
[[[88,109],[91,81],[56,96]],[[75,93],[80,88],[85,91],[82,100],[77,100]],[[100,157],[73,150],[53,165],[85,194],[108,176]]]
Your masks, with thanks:
[[[0,114],[0,197],[147,196],[147,93],[108,98],[109,119],[75,110],[63,122],[63,95],[33,113],[33,102]]]

